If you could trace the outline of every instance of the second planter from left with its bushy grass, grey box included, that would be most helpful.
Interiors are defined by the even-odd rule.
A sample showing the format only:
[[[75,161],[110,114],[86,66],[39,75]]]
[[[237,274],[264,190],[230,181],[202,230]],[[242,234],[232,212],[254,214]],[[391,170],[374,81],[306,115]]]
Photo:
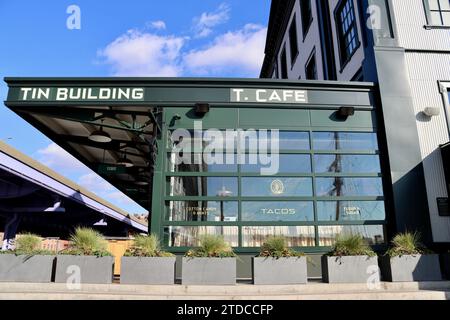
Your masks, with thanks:
[[[55,282],[112,283],[114,257],[103,236],[89,228],[77,228],[68,249],[56,258]]]

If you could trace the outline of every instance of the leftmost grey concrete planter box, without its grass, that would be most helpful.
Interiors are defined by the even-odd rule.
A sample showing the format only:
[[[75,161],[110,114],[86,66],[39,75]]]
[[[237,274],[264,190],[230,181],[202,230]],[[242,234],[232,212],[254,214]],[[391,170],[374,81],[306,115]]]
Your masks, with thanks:
[[[0,254],[1,282],[52,281],[55,256]]]

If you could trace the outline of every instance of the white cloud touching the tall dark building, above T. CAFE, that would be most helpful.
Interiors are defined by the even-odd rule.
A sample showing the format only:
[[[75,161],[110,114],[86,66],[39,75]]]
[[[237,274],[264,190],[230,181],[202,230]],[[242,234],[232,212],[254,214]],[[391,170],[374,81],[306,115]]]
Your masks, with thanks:
[[[204,49],[192,50],[184,57],[185,67],[195,75],[257,77],[264,58],[267,28],[247,24],[243,29],[227,32]]]

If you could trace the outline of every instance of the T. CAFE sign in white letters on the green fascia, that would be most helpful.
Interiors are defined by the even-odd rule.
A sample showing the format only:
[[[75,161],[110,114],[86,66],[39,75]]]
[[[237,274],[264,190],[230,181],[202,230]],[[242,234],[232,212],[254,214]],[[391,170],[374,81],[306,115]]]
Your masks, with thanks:
[[[231,102],[248,103],[308,103],[306,90],[286,89],[231,89]]]

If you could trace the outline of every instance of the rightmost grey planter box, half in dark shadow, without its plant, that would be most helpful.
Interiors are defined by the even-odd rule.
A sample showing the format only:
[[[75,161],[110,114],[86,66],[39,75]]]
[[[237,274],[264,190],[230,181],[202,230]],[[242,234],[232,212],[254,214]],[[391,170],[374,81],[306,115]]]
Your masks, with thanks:
[[[440,281],[439,255],[380,257],[383,280],[391,282]]]

